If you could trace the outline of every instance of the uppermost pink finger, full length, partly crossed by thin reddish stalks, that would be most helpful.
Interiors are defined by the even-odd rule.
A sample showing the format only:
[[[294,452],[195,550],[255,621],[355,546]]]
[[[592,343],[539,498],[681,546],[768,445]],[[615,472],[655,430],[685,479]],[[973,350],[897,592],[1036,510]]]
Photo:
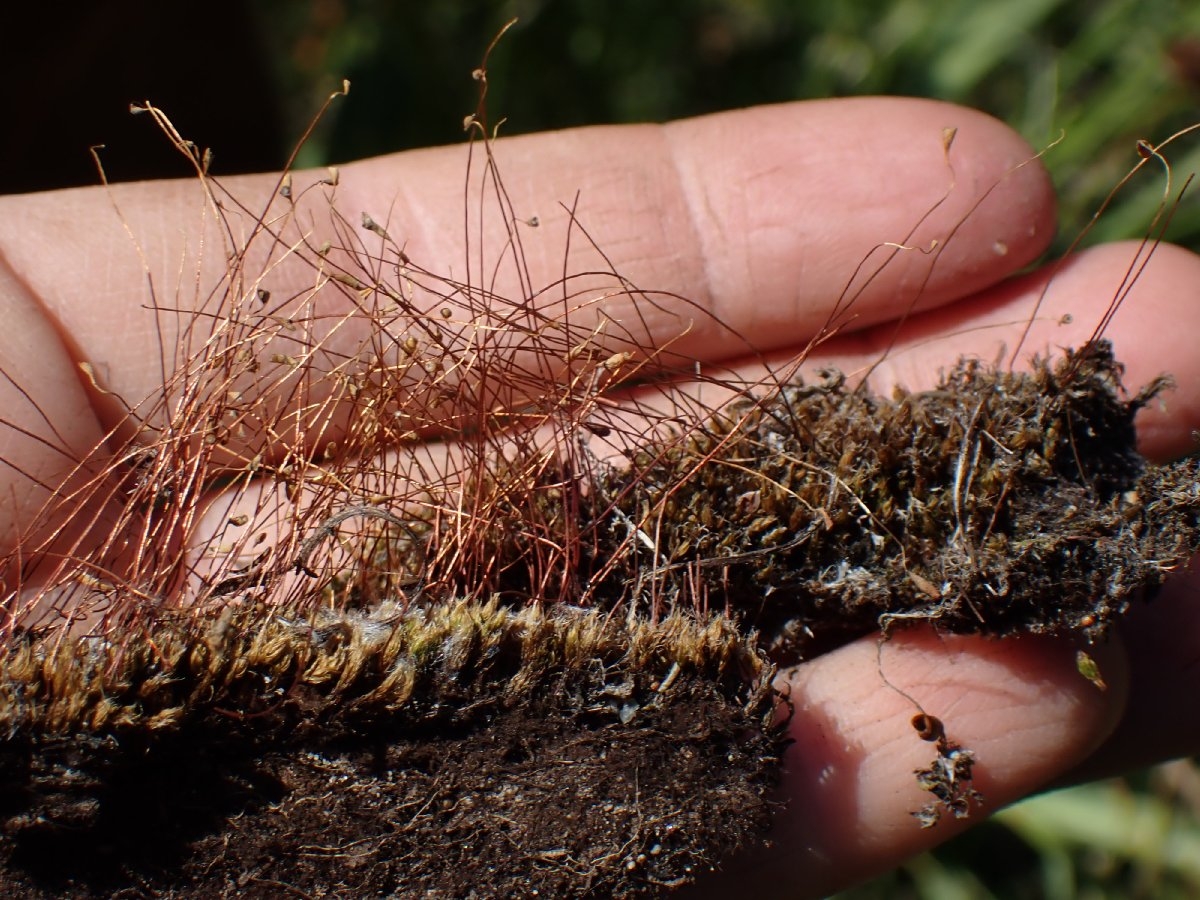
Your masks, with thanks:
[[[952,166],[946,162],[944,128],[958,128]],[[539,228],[522,227],[520,234],[528,272],[524,287],[516,283],[512,253],[505,247],[509,220],[485,214],[482,245],[464,226],[464,215],[478,209],[463,199],[466,148],[348,166],[336,203],[349,220],[365,211],[386,223],[414,264],[457,280],[470,271],[476,284],[494,284],[497,294],[514,304],[510,316],[523,305],[547,307],[532,317],[535,329],[546,322],[539,316],[565,314],[564,290],[527,295],[553,284],[564,271],[595,271],[611,264],[646,290],[686,296],[691,302],[616,292],[594,302],[587,292],[582,298],[576,293],[588,282],[582,277],[565,289],[576,298],[568,305],[583,306],[575,314],[581,334],[604,322],[613,341],[661,346],[678,340],[673,349],[700,359],[728,354],[730,330],[756,347],[803,343],[826,322],[854,266],[884,241],[907,240],[920,247],[938,241],[944,251],[931,275],[930,256],[913,252],[890,260],[854,301],[860,323],[894,314],[896,296],[904,304],[917,298],[946,302],[994,282],[1038,253],[1052,230],[1052,197],[1044,172],[1033,163],[1010,173],[1028,160],[1028,148],[992,119],[928,101],[803,103],[665,127],[559,132],[502,142],[497,154],[505,184],[517,198],[516,215],[541,220]],[[312,181],[314,175],[298,176],[296,192],[301,182]],[[246,209],[254,210],[266,208],[274,184],[270,178],[247,178],[232,179],[228,186]],[[994,186],[998,187],[980,202]],[[473,190],[482,188],[476,184]],[[577,218],[594,244],[575,233],[568,250],[570,216],[562,204],[571,204],[576,194]],[[221,312],[216,301],[222,300],[228,247],[222,246],[222,228],[214,210],[203,205],[205,197],[196,184],[121,186],[113,198],[124,223],[100,191],[6,198],[0,203],[0,250],[32,300],[66,336],[77,361],[89,361],[107,390],[134,403],[161,394],[164,365],[169,374],[209,341],[217,320],[205,318],[197,325],[188,310]],[[322,208],[329,200],[320,191],[308,194],[308,205],[292,218],[283,200],[270,203],[271,216],[280,217],[271,220],[272,227],[289,239],[299,240],[295,235],[304,232],[313,247],[325,238],[335,245],[348,240]],[[494,199],[488,196],[480,203]],[[228,199],[223,211],[236,234],[254,224]],[[958,234],[948,241],[955,228]],[[469,251],[466,232],[475,241]],[[131,234],[140,241],[139,250]],[[319,407],[322,386],[296,394],[295,379],[280,373],[272,359],[316,360],[305,353],[319,348],[328,360],[354,360],[365,349],[379,349],[371,343],[379,338],[372,329],[391,329],[383,343],[402,341],[403,323],[380,329],[358,314],[354,292],[344,284],[313,294],[323,282],[311,258],[280,259],[280,246],[264,240],[258,245],[259,257],[248,259],[241,272],[247,283],[234,293],[252,295],[259,286],[271,292],[272,304],[296,298],[292,306],[272,306],[271,313],[293,322],[299,334],[272,332],[256,377],[238,389],[262,391],[286,382],[281,390],[293,392],[271,412],[281,418],[288,404]],[[274,257],[270,263],[263,257],[268,251]],[[395,258],[388,262],[392,271]],[[344,257],[340,264],[353,266]],[[493,275],[497,265],[499,274]],[[612,277],[590,281],[601,293],[614,293]],[[154,286],[154,298],[148,284]],[[216,295],[212,286],[218,288]],[[404,283],[394,287],[403,290]],[[427,294],[416,293],[418,312],[446,302],[436,286]],[[443,284],[440,293],[449,294],[450,288]],[[500,302],[487,298],[493,301]],[[223,302],[228,311],[230,300]],[[148,308],[154,304],[182,312]],[[476,296],[468,308],[452,312],[463,313],[469,324],[468,313],[478,312],[479,305]],[[188,326],[198,329],[192,337]],[[47,376],[34,367],[23,373],[23,383],[55,409],[60,402]],[[112,425],[119,410],[102,396],[92,400],[109,416],[106,425]]]

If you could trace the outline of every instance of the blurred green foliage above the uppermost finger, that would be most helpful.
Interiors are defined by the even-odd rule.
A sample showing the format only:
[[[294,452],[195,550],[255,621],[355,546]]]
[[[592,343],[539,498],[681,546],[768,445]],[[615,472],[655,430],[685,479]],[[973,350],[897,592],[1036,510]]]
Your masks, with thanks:
[[[472,70],[491,60],[490,108],[506,133],[665,120],[829,96],[904,94],[1009,122],[1048,164],[1064,238],[1136,162],[1135,142],[1189,125],[1200,96],[1200,5],[1187,0],[257,0],[292,131],[342,78],[354,83],[305,163],[462,139]],[[1177,173],[1200,148],[1172,156]],[[1180,179],[1177,179],[1180,180]],[[1160,173],[1132,186],[1090,240],[1139,235]],[[1172,240],[1200,247],[1200,206]]]

